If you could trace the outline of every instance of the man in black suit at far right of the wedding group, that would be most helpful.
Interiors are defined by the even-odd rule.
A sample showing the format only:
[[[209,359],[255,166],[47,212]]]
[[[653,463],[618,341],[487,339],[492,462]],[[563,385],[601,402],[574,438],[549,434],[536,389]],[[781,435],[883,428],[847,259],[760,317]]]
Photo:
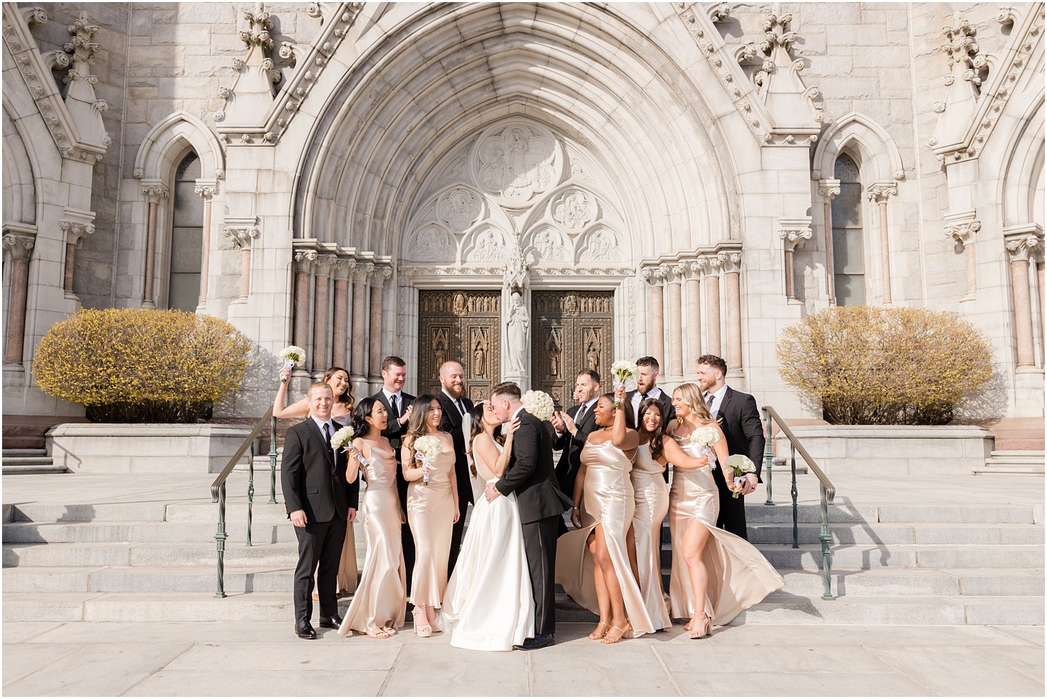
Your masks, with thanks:
[[[727,362],[716,355],[698,357],[698,386],[709,407],[709,414],[720,421],[727,450],[730,454],[744,454],[752,459],[756,473],[745,474],[741,495],[733,497],[723,479],[723,469],[713,471],[713,480],[720,491],[720,511],[716,525],[749,539],[745,526],[745,495],[756,490],[761,482],[760,470],[763,466],[763,423],[756,407],[756,399],[749,393],[734,390],[727,385]]]

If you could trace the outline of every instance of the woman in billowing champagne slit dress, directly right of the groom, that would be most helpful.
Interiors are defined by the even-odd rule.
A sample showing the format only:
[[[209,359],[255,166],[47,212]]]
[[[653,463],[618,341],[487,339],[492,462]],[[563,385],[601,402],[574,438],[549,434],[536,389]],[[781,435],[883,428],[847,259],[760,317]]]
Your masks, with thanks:
[[[588,434],[575,480],[571,516],[579,528],[559,538],[556,582],[575,602],[600,614],[593,640],[616,644],[653,633],[629,560],[628,535],[636,509],[630,454],[639,445],[626,426],[631,414],[624,403],[616,409],[608,396],[593,409],[598,428]]]

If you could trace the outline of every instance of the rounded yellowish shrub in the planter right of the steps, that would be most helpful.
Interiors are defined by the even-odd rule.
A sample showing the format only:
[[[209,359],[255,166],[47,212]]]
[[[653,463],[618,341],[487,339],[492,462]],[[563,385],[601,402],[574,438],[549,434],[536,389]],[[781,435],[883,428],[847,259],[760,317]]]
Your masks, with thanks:
[[[837,307],[778,341],[785,383],[838,425],[944,425],[993,374],[988,340],[955,313]]]

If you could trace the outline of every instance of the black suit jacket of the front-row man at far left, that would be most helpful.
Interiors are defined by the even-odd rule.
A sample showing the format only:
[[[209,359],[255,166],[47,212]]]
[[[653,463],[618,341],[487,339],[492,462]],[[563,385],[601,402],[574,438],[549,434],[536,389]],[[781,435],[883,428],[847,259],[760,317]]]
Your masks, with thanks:
[[[287,430],[281,484],[288,516],[304,510],[309,522],[349,517],[349,509],[359,503],[360,479],[346,482],[346,457],[343,451],[336,454],[324,442],[324,433],[312,418]]]

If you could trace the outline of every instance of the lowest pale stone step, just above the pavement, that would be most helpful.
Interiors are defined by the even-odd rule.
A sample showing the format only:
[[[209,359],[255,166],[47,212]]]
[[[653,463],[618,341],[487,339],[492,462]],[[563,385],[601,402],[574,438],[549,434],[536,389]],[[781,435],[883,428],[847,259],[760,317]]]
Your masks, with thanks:
[[[340,613],[350,599],[339,601]],[[314,608],[314,621],[318,611]],[[283,622],[290,625],[293,605],[287,592],[237,594],[215,599],[198,593],[23,593],[4,592],[4,622]],[[949,595],[853,595],[836,601],[776,592],[739,614],[740,624],[840,625],[1001,625],[1042,626],[1043,596],[977,597]],[[562,593],[557,621],[595,623]]]

